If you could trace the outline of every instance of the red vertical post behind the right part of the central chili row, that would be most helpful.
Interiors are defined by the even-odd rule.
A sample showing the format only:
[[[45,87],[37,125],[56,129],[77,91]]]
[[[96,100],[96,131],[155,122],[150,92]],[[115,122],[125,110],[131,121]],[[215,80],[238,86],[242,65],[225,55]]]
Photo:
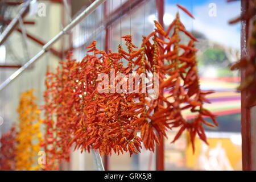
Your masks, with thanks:
[[[164,27],[164,0],[156,0],[156,7],[158,10],[158,22]],[[160,36],[163,39],[163,36]],[[164,171],[164,138],[160,139],[159,146],[156,146],[156,170]]]

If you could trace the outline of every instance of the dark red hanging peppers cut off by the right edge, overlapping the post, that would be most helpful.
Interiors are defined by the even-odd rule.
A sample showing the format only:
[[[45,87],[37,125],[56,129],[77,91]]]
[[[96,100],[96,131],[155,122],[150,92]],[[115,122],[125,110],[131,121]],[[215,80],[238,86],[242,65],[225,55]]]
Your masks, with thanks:
[[[255,0],[248,0],[248,7],[249,9],[246,12],[243,12],[242,15],[234,20],[231,20],[229,23],[237,23],[241,20],[246,21],[249,24],[249,32],[247,38],[247,45],[249,52],[246,57],[243,57],[237,63],[233,64],[231,70],[240,69],[240,71],[245,72],[245,78],[241,81],[240,86],[238,86],[238,91],[247,90],[248,92],[248,99],[247,99],[247,106],[253,104],[256,101],[255,93],[255,86],[254,83],[256,81],[256,1]]]

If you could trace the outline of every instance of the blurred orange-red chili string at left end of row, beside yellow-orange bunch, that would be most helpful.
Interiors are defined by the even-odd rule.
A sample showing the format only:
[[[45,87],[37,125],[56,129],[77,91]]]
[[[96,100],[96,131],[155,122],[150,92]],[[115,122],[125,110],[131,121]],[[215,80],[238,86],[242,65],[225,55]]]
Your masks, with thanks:
[[[77,129],[81,115],[80,93],[76,90],[77,69],[76,60],[72,60],[70,52],[66,59],[60,61],[56,73],[46,74],[46,92],[44,92],[44,124],[46,132],[42,146],[46,152],[44,169],[57,170],[61,159],[69,160],[71,137]],[[75,73],[73,72],[75,71]],[[79,85],[80,86],[80,85]],[[83,86],[82,86],[83,88]]]

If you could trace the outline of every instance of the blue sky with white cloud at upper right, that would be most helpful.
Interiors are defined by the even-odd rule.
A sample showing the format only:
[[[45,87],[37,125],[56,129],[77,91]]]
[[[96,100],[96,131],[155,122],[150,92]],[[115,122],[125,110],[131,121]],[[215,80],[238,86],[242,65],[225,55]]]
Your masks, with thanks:
[[[165,13],[175,16],[180,12],[181,21],[188,30],[202,32],[213,42],[228,47],[240,48],[240,23],[229,25],[228,21],[240,14],[240,1],[227,3],[226,0],[166,0]],[[183,11],[177,9],[176,3],[184,6],[195,16],[190,19]],[[209,16],[209,4],[216,4],[216,15]]]

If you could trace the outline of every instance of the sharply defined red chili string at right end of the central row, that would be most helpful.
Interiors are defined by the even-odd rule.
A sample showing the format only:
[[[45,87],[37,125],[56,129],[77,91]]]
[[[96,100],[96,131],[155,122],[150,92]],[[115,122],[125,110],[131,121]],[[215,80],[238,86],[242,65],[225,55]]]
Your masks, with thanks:
[[[183,9],[189,16],[191,16],[191,14],[185,10],[184,7],[179,7]],[[216,126],[218,123],[215,119],[216,116],[203,107],[204,102],[209,102],[205,98],[205,95],[207,95],[209,92],[203,92],[199,85],[196,61],[197,50],[194,45],[194,42],[197,40],[185,30],[185,27],[180,22],[179,14],[176,15],[174,22],[174,24],[170,25],[174,28],[174,33],[172,34],[171,38],[168,37],[168,34],[162,33],[162,35],[170,41],[170,45],[173,47],[173,49],[170,49],[171,46],[169,46],[169,43],[167,43],[168,49],[165,48],[163,50],[163,55],[159,56],[159,59],[166,59],[170,64],[170,66],[168,66],[170,69],[163,67],[163,69],[166,70],[167,75],[170,77],[160,84],[160,88],[168,90],[168,92],[171,94],[171,102],[167,103],[167,108],[169,107],[170,110],[167,111],[166,108],[162,108],[159,112],[162,114],[163,112],[161,112],[161,110],[163,110],[166,114],[168,113],[167,120],[171,121],[170,126],[172,128],[180,127],[180,130],[176,134],[173,142],[175,142],[175,140],[180,137],[181,133],[187,129],[191,136],[193,150],[195,150],[194,141],[196,134],[198,134],[199,137],[207,143],[203,129],[203,124],[205,124],[206,121],[203,117],[207,116],[212,118],[214,125]],[[171,28],[169,27],[167,30],[170,31]],[[184,32],[185,35],[191,39],[187,46],[180,44],[180,31]],[[184,53],[181,55],[179,54],[179,52],[182,52],[180,49],[184,50]],[[189,122],[186,121],[181,114],[181,111],[184,109],[189,109],[193,113],[197,113],[196,118]],[[157,118],[160,114],[156,112],[154,115]]]

